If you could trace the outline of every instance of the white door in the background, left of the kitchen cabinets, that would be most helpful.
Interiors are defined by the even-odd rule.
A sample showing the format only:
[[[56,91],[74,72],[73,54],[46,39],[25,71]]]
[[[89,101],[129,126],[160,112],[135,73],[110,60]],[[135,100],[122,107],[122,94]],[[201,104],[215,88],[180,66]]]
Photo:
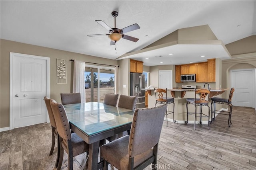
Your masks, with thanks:
[[[172,89],[172,70],[159,70],[159,88]]]

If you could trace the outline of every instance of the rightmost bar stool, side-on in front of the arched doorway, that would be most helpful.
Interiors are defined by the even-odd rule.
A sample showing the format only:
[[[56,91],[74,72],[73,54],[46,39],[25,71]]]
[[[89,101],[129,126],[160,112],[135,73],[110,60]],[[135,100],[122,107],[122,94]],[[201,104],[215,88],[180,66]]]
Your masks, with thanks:
[[[232,115],[232,107],[233,107],[231,101],[232,101],[234,91],[235,91],[235,89],[231,88],[228,99],[225,99],[225,98],[211,98],[211,100],[212,100],[211,109],[212,109],[212,104],[213,104],[213,107],[214,107],[214,109],[212,109],[212,113],[214,113],[214,118],[212,118],[213,121],[215,119],[215,113],[216,113],[216,111],[218,111],[219,112],[218,114],[228,115],[228,126],[230,127],[230,124],[232,124],[231,123],[231,115]],[[229,111],[216,110],[215,104],[226,104],[226,105],[229,106]],[[228,113],[228,114],[226,114],[226,113]]]

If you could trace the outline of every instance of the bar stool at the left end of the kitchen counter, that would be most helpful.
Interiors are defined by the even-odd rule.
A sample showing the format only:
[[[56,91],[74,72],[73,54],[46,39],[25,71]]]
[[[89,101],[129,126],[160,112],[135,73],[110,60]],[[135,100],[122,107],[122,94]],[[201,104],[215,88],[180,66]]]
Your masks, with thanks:
[[[154,88],[154,92],[155,92],[155,96],[156,96],[155,107],[156,107],[156,104],[173,104],[172,111],[168,111],[166,109],[166,126],[168,126],[167,115],[172,114],[172,113],[173,113],[173,122],[176,123],[176,120],[174,120],[174,106],[175,106],[174,98],[168,98],[167,97],[167,88],[165,90],[161,89],[161,88],[158,88],[158,89]],[[164,95],[166,97],[164,97]]]

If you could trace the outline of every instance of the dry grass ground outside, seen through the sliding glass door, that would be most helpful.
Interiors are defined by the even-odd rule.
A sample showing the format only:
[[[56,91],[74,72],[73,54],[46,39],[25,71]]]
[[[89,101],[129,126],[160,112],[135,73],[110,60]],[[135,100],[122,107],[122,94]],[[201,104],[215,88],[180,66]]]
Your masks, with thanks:
[[[103,102],[105,94],[114,94],[114,87],[100,87],[100,102]],[[91,102],[91,88],[85,89],[86,102]],[[93,88],[93,102],[97,102],[98,88]]]

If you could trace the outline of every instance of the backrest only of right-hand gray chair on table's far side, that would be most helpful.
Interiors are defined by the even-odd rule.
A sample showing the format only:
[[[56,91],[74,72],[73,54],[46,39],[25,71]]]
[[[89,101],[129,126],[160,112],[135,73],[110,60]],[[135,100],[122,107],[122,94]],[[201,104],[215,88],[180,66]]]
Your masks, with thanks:
[[[126,96],[121,94],[118,101],[118,107],[135,110],[137,100],[138,96]]]

